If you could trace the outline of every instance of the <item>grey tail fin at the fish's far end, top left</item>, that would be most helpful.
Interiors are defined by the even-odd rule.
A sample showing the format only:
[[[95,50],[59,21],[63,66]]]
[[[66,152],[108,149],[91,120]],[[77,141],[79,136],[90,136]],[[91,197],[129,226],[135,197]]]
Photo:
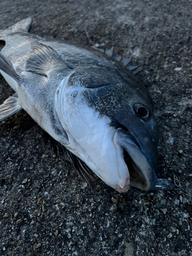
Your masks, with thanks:
[[[31,22],[32,22],[32,18],[29,17],[29,18],[20,20],[20,22],[17,22],[15,25],[9,27],[8,29],[0,30],[0,40],[5,40],[8,34],[19,31],[19,30],[25,30],[28,32],[31,26]]]

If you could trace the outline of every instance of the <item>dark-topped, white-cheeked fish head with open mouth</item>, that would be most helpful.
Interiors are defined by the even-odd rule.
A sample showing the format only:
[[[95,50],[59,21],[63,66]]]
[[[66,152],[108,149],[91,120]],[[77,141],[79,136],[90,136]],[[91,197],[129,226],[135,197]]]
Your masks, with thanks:
[[[155,187],[159,130],[151,98],[135,76],[74,72],[61,84],[57,104],[66,147],[101,180],[120,192]]]

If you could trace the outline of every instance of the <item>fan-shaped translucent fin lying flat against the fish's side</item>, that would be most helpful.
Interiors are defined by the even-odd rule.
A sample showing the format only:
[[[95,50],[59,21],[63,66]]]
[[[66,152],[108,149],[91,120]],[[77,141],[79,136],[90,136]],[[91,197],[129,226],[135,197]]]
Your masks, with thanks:
[[[48,73],[55,69],[72,69],[51,47],[36,43],[32,49],[32,53],[26,61],[26,71],[47,77]]]

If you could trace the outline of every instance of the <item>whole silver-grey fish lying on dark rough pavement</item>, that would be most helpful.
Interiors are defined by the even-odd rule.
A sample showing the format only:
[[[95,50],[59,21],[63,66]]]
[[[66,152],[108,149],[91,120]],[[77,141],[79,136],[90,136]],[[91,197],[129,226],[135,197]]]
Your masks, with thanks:
[[[120,193],[174,187],[157,179],[159,127],[129,61],[32,35],[31,23],[0,30],[0,71],[15,91],[0,105],[0,121],[24,109],[92,189],[95,175]]]

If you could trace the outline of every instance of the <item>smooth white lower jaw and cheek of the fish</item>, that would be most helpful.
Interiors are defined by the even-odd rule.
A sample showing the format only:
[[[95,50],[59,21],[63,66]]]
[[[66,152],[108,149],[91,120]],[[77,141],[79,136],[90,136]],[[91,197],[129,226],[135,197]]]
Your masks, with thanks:
[[[66,119],[69,117],[66,130],[70,141],[66,147],[84,161],[103,182],[125,193],[129,189],[130,175],[123,159],[123,148],[114,141],[116,131],[110,127],[110,120],[106,117],[98,118],[98,114],[86,106],[83,111],[92,123],[88,119],[82,119],[82,116],[85,117],[82,112],[80,115],[78,111],[74,112],[74,119],[68,113],[65,115]],[[94,118],[91,118],[92,115]]]

